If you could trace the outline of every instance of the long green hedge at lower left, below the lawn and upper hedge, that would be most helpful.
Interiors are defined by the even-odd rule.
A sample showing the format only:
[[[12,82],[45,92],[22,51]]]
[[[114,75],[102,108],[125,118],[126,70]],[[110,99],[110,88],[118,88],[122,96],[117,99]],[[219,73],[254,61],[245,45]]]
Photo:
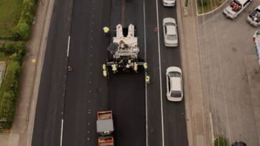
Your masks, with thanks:
[[[10,128],[14,121],[21,63],[26,53],[26,46],[23,42],[6,42],[0,51],[9,55],[9,61],[7,61],[6,66],[6,78],[3,80],[0,88],[0,118],[6,118],[6,122],[0,122],[0,126]]]

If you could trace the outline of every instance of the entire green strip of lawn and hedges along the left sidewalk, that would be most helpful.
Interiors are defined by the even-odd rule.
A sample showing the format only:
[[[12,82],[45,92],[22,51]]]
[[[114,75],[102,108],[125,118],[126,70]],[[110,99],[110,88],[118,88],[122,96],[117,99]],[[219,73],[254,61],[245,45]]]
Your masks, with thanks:
[[[0,132],[8,131],[14,121],[19,92],[21,65],[34,22],[36,0],[1,0],[0,3],[0,61],[6,69],[0,87]],[[3,130],[4,129],[4,130]]]

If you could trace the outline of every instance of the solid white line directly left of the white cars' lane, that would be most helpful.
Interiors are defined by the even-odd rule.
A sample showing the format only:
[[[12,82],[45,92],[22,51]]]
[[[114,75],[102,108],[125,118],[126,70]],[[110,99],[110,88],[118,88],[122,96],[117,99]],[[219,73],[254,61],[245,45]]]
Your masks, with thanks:
[[[161,89],[161,48],[160,48],[160,35],[159,35],[159,11],[158,0],[156,0],[156,14],[157,14],[157,39],[158,39],[158,53],[159,53],[159,75],[160,75],[160,94],[161,94],[161,138],[162,146],[164,146],[164,107],[162,103],[162,89]]]

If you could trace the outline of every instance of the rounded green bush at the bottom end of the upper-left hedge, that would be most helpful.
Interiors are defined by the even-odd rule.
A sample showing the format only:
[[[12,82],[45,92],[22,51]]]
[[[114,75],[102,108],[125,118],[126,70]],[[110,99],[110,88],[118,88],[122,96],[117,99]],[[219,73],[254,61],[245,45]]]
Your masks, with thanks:
[[[26,41],[29,39],[31,27],[26,23],[19,23],[11,29],[11,36],[14,40]]]

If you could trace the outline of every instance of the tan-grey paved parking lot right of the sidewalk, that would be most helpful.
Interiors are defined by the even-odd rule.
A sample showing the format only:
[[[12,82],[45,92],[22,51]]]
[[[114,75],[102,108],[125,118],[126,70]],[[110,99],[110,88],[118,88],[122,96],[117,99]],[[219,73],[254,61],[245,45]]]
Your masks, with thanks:
[[[260,145],[260,71],[252,36],[258,28],[246,16],[260,4],[253,1],[239,16],[222,10],[199,16],[198,37],[204,104],[214,137]]]

